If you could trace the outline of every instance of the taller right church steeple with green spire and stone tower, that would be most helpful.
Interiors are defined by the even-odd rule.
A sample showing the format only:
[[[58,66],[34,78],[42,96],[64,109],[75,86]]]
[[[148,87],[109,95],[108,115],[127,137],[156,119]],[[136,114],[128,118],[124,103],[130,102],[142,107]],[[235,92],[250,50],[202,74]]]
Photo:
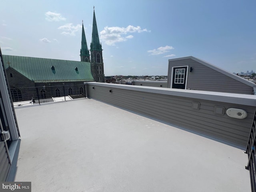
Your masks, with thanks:
[[[104,64],[100,44],[95,11],[93,7],[92,42],[91,42],[91,72],[96,82],[104,82]]]

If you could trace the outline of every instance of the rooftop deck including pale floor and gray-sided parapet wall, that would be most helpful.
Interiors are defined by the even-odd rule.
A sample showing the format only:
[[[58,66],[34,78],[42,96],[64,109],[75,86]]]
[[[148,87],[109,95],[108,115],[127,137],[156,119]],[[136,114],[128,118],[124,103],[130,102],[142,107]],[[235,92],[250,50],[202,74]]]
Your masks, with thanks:
[[[15,181],[31,181],[37,192],[251,190],[244,135],[254,96],[96,82],[86,83],[86,95],[16,108],[22,141]],[[214,106],[248,116],[227,118]]]

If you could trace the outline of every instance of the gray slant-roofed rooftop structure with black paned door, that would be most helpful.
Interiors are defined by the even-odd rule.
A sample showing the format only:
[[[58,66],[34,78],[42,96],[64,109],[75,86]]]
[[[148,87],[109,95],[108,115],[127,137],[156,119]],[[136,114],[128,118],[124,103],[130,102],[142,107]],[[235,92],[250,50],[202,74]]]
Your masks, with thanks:
[[[256,94],[256,84],[192,56],[169,59],[167,87]]]

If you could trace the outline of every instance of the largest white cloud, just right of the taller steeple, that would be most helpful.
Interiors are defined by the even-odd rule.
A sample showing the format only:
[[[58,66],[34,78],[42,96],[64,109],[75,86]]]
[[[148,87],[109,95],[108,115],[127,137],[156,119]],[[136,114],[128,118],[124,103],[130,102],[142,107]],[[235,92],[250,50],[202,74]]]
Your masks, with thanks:
[[[104,27],[104,30],[100,32],[100,38],[107,44],[107,45],[115,45],[118,42],[124,42],[127,39],[133,38],[132,35],[123,36],[127,33],[141,33],[141,32],[150,32],[147,29],[141,29],[140,26],[127,26],[124,27]]]

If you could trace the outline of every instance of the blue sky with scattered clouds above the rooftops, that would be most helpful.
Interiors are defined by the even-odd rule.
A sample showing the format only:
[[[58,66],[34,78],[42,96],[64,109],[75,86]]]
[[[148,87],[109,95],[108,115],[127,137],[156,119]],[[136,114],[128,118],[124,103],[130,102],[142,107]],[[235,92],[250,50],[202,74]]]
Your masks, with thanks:
[[[105,76],[167,75],[185,56],[256,71],[255,0],[0,0],[2,54],[80,61],[94,6]]]

